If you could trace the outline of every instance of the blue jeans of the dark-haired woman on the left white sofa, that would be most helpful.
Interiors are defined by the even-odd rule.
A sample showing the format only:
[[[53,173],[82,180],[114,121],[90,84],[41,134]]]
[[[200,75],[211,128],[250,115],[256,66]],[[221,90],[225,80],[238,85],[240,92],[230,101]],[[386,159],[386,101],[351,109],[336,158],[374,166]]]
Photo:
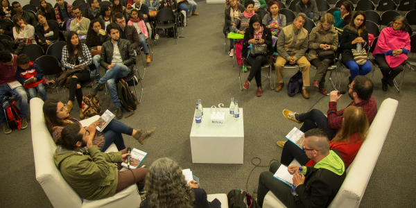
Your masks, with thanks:
[[[118,150],[125,149],[123,135],[121,134],[127,135],[129,129],[130,127],[128,125],[112,119],[103,130],[105,143],[101,152],[105,152],[112,143],[117,146]]]

